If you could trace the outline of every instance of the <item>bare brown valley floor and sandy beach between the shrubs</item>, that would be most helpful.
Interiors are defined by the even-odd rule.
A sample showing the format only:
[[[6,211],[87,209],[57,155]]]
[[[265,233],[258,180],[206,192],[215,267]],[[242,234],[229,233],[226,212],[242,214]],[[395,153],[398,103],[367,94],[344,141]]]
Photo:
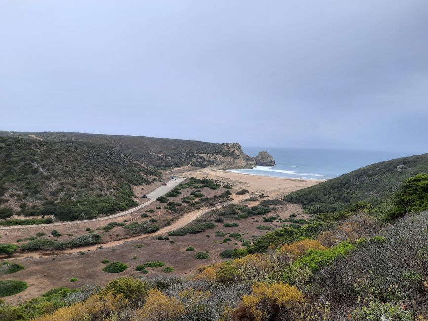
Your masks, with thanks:
[[[249,175],[241,175],[212,169],[199,169],[192,171],[189,170],[187,166],[185,167],[186,168],[181,168],[173,172],[171,171],[171,175],[173,174],[188,177],[193,176],[196,178],[207,177],[210,179],[221,180],[222,182],[233,187],[231,190],[233,193],[233,195],[231,195],[234,199],[233,202],[240,203],[242,205],[249,204],[250,206],[255,205],[258,202],[244,201],[244,199],[254,195],[260,195],[262,193],[269,195],[268,198],[264,199],[279,198],[280,196],[290,193],[293,190],[311,186],[317,183],[315,181],[298,181],[257,176],[252,177]],[[248,189],[250,193],[244,196],[236,196],[235,192],[243,188]],[[185,192],[183,191],[183,195],[177,197],[175,201],[180,200],[180,198],[185,195],[184,193]],[[207,197],[212,197],[215,193],[218,194],[219,191],[203,189],[203,193]],[[170,199],[174,201],[174,198]],[[162,209],[158,209],[157,207],[160,207],[159,205],[160,204],[158,204],[156,201],[145,208],[141,208],[138,211],[134,211],[133,213],[124,215],[120,218],[121,220],[126,221],[140,221],[143,219],[156,218],[158,221],[160,221],[162,217],[171,219],[174,216],[173,213],[165,211],[163,206]],[[276,210],[268,213],[266,216],[279,215],[280,218],[286,219],[294,213],[297,214],[298,218],[305,217],[302,213],[302,208],[299,205],[284,204],[275,207]],[[145,211],[149,209],[153,209],[154,213],[148,213],[150,215],[148,218],[141,218],[140,215],[142,213],[147,213]],[[185,212],[181,217],[174,219],[171,225],[166,226],[157,231],[155,234],[151,235],[130,237],[129,235],[126,235],[122,227],[118,226],[108,231],[97,231],[97,233],[100,233],[100,235],[103,237],[103,240],[107,242],[102,246],[102,248],[99,248],[99,246],[85,249],[79,248],[77,251],[74,250],[73,253],[67,253],[67,251],[63,251],[61,255],[55,255],[58,253],[24,254],[20,258],[15,259],[19,260],[19,263],[24,265],[24,270],[18,271],[11,275],[0,275],[0,279],[13,278],[26,281],[29,284],[29,287],[25,291],[5,299],[16,303],[21,300],[30,299],[32,297],[41,295],[52,288],[62,286],[77,288],[88,283],[104,285],[108,281],[116,279],[120,276],[139,277],[142,276],[142,274],[138,271],[135,271],[135,267],[148,261],[165,262],[165,266],[171,266],[175,269],[175,274],[186,275],[195,271],[195,269],[200,265],[208,265],[214,262],[222,261],[219,254],[223,250],[227,248],[241,247],[241,242],[234,239],[232,241],[223,242],[225,237],[215,236],[215,231],[222,231],[224,233],[238,232],[242,234],[242,238],[251,240],[254,237],[269,232],[266,230],[258,230],[256,228],[258,225],[269,225],[274,229],[279,228],[283,224],[276,221],[272,223],[265,223],[262,222],[263,219],[260,217],[249,217],[247,219],[241,219],[238,221],[225,220],[224,223],[236,222],[238,223],[238,226],[224,227],[224,223],[216,223],[217,227],[215,229],[207,230],[203,233],[170,237],[170,240],[157,240],[156,236],[166,236],[167,232],[173,229],[185,226],[196,218],[203,218],[203,215],[207,211],[208,210],[206,208],[201,208]],[[58,232],[63,234],[63,236],[59,237],[58,239],[66,241],[67,238],[71,239],[82,233],[87,233],[85,230],[86,227],[97,229],[114,220],[114,218],[109,218],[101,222],[87,221],[87,224],[77,224],[76,226],[71,224],[66,226],[57,226],[55,228],[58,230]],[[34,227],[31,229],[32,230],[25,231],[25,235],[27,237],[35,235],[35,233],[39,232],[40,230],[39,227]],[[47,227],[47,229],[47,233],[50,233],[52,228]],[[2,232],[4,231],[0,232],[3,235]],[[5,240],[7,239],[16,242],[18,237],[24,236],[22,233],[19,234],[15,232],[19,232],[19,229],[7,231],[8,234],[3,235],[1,241],[6,242]],[[9,235],[9,233],[11,233],[11,235]],[[171,240],[174,241],[174,243],[170,243]],[[140,244],[144,244],[144,247],[135,247],[135,245]],[[195,251],[186,251],[186,248],[189,246],[194,247]],[[195,253],[205,251],[209,252],[209,259],[198,260],[193,257]],[[104,259],[108,259],[110,262],[124,262],[128,265],[128,269],[117,274],[105,273],[102,271],[105,264],[101,263],[101,261]],[[8,261],[13,260],[14,259],[9,259]],[[150,277],[159,274],[165,275],[166,273],[162,272],[162,269],[163,267],[149,268],[149,273],[147,276]],[[72,277],[78,278],[78,281],[69,282],[70,278]]]

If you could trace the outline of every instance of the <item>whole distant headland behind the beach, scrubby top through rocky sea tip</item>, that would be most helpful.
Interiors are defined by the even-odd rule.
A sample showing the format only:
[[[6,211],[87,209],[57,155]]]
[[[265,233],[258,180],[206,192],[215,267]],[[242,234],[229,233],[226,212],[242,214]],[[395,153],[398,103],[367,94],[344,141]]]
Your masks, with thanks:
[[[20,137],[30,141],[73,141],[115,148],[145,165],[153,167],[218,167],[227,169],[274,166],[266,151],[248,156],[238,143],[208,143],[195,140],[147,136],[100,135],[67,132],[6,132],[0,137]]]

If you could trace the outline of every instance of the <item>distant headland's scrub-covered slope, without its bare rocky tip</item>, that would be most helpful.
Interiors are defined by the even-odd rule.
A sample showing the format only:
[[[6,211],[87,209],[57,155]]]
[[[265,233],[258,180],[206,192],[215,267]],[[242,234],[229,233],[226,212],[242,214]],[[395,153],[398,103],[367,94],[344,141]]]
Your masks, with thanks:
[[[101,135],[67,132],[41,133],[9,133],[2,131],[0,136],[30,138],[34,135],[43,140],[71,140],[114,147],[131,158],[151,166],[175,167],[185,166],[193,161],[193,165],[206,167],[213,165],[215,158],[207,157],[214,154],[219,157],[239,159],[232,144],[216,144],[194,140],[154,138],[146,136]],[[240,146],[239,146],[240,150]],[[244,156],[246,156],[244,154]]]

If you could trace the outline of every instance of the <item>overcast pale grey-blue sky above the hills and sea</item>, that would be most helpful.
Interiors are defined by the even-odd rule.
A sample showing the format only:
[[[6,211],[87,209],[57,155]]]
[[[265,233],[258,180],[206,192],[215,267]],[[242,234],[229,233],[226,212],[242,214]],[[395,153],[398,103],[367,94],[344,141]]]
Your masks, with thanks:
[[[1,0],[0,129],[428,152],[427,0]]]

